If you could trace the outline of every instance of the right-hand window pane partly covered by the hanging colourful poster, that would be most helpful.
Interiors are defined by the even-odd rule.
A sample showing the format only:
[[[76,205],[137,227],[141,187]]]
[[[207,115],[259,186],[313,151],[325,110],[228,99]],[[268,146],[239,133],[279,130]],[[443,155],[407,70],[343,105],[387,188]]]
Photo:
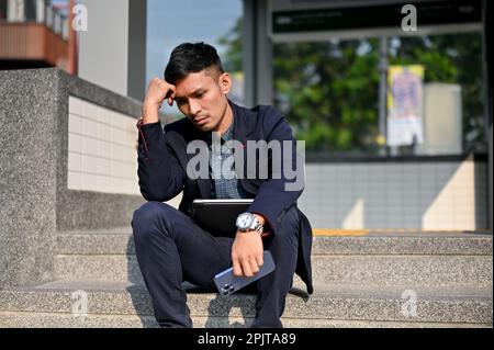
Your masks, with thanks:
[[[481,33],[390,41],[391,65],[424,67],[423,145],[415,153],[486,153]]]

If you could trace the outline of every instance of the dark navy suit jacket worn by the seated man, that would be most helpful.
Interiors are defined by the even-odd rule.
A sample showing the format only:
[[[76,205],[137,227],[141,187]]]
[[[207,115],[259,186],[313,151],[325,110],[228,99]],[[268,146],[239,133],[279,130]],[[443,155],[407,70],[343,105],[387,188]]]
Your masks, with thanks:
[[[296,149],[292,131],[277,110],[267,105],[245,109],[229,101],[235,118],[233,139],[246,145],[247,140],[291,140],[292,159]],[[192,215],[191,203],[195,199],[211,197],[210,179],[191,179],[187,176],[187,163],[194,157],[187,153],[187,146],[192,140],[206,140],[211,133],[199,131],[187,118],[165,126],[160,123],[141,125],[138,143],[138,177],[143,196],[148,201],[165,202],[183,191],[179,210],[186,215]],[[246,158],[246,157],[245,157]],[[292,206],[296,207],[300,191],[285,191],[289,181],[282,172],[281,179],[248,179],[247,166],[244,166],[244,177],[240,183],[245,192],[254,197],[249,212],[259,213],[267,218],[271,234],[276,235],[284,213]],[[300,215],[300,241],[296,262],[296,273],[305,282],[307,292],[312,294],[312,228],[307,217],[296,207]]]

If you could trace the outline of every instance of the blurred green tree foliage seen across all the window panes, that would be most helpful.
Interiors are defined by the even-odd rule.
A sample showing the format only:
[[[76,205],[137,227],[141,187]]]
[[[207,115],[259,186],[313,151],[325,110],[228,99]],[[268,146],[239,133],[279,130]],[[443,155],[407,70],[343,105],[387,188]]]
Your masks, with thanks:
[[[222,38],[225,67],[242,70],[242,19]],[[392,39],[390,64],[425,66],[425,82],[460,83],[467,151],[482,149],[481,35]],[[377,154],[379,41],[282,43],[273,46],[274,104],[311,151]]]

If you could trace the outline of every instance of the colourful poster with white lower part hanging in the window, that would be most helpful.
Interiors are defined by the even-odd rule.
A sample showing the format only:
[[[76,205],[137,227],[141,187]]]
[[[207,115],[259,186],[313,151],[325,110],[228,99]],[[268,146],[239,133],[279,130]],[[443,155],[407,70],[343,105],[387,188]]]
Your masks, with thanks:
[[[390,66],[388,70],[388,146],[424,142],[424,66]]]

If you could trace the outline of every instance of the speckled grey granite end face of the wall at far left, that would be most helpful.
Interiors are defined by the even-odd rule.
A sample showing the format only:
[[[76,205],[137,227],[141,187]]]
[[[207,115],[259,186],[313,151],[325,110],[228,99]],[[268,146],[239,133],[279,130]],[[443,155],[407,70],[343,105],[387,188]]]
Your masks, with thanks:
[[[0,71],[0,289],[52,278],[59,78]]]

